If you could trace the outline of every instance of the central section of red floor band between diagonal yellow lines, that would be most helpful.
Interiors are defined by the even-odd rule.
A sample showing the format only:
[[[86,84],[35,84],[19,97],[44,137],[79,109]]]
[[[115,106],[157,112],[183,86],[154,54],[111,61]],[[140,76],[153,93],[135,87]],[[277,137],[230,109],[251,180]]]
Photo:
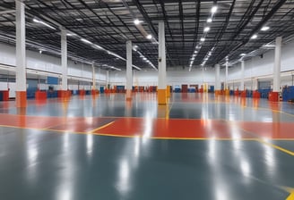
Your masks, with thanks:
[[[110,126],[94,131],[100,134],[142,137],[178,138],[252,138],[244,130],[236,129],[226,121],[134,119],[122,118]]]

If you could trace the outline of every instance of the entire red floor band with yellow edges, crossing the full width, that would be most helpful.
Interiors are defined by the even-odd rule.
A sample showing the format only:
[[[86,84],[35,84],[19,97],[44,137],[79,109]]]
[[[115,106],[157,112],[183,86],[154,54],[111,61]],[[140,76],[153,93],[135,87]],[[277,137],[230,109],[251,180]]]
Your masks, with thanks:
[[[150,118],[63,118],[0,114],[0,125],[17,128],[90,132],[115,136],[167,138],[294,138],[294,123],[234,122]],[[113,122],[109,124],[110,122]],[[109,124],[108,126],[105,126]],[[105,127],[103,127],[105,126]],[[101,129],[99,129],[101,128]],[[96,129],[96,130],[95,130]]]

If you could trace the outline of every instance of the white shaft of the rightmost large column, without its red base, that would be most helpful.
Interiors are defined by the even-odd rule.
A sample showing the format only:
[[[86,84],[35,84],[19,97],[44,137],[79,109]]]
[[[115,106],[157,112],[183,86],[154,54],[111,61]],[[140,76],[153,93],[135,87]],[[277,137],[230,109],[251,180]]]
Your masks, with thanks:
[[[280,92],[281,84],[281,37],[276,37],[274,49],[272,92]]]

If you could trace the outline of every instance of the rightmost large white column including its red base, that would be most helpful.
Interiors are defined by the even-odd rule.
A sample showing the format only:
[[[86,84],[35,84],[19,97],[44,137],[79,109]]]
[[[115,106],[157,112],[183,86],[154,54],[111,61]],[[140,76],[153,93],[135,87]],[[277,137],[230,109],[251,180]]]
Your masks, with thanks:
[[[274,49],[274,65],[273,65],[273,84],[272,92],[269,100],[272,102],[279,101],[279,92],[281,85],[281,37],[276,37]]]

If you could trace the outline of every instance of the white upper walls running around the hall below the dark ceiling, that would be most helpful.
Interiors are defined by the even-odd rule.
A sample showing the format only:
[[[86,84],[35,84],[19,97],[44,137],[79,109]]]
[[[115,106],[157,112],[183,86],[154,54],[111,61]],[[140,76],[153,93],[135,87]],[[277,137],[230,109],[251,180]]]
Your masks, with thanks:
[[[268,51],[264,57],[253,57],[245,62],[245,85],[247,89],[254,89],[257,80],[272,80],[274,51]],[[0,64],[15,65],[15,47],[0,44]],[[37,52],[27,51],[27,68],[37,71],[50,71],[52,73],[61,72],[60,58],[39,54]],[[229,68],[229,87],[236,89],[239,87],[241,78],[240,63],[233,68]],[[29,70],[27,70],[29,71]],[[281,73],[281,86],[292,85],[292,74],[294,75],[294,42],[281,46],[281,71],[290,71]],[[82,63],[68,62],[69,79],[79,79],[82,81],[91,81],[91,65]],[[220,79],[224,81],[225,70],[221,70]],[[96,69],[96,79],[100,85],[106,85],[106,71]],[[111,85],[125,85],[125,71],[109,72],[109,81]],[[206,71],[193,69],[188,71],[186,68],[168,68],[167,84],[171,86],[182,84],[206,83],[214,85],[215,71],[214,68],[207,68]],[[134,86],[156,86],[158,83],[158,71],[152,69],[148,71],[134,71]],[[6,83],[0,84],[7,87]],[[13,86],[13,85],[12,85]],[[77,85],[69,86],[76,88]],[[85,85],[88,88],[88,84]],[[5,88],[3,88],[5,89]]]

